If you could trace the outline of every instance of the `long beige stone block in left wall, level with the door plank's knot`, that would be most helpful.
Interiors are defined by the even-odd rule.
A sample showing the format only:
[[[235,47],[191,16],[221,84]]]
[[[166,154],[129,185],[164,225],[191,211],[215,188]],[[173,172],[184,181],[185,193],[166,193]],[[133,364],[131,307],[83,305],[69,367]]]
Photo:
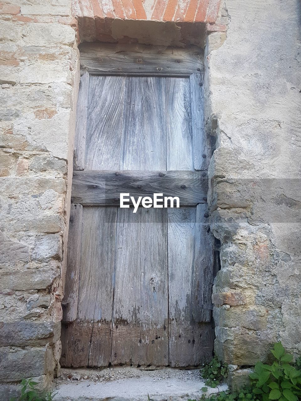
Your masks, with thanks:
[[[59,274],[59,269],[50,268],[8,270],[0,275],[0,288],[2,290],[42,290],[50,286]]]

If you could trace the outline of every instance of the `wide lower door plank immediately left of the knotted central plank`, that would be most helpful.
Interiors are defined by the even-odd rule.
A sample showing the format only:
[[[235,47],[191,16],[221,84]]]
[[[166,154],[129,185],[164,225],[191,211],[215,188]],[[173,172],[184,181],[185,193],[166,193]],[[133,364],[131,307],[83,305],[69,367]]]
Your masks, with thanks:
[[[83,208],[74,367],[110,362],[116,220],[117,208]]]

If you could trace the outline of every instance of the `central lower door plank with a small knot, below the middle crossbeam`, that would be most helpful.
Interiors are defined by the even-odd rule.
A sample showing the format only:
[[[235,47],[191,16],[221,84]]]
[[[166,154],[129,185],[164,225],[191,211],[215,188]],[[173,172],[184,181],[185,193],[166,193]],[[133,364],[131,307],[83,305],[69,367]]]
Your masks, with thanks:
[[[112,364],[168,365],[166,209],[118,210]]]

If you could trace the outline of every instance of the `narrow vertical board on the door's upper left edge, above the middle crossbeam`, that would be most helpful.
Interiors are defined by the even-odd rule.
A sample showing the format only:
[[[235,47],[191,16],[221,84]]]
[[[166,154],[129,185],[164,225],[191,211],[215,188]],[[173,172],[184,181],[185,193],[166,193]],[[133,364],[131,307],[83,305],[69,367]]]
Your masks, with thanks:
[[[73,170],[85,168],[88,93],[89,73],[84,72],[79,81],[77,98]]]

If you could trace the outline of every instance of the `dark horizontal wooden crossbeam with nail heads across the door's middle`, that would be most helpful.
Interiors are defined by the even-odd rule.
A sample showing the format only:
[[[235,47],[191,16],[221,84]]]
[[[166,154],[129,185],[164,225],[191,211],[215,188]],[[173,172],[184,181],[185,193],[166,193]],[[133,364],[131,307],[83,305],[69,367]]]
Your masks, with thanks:
[[[71,199],[82,205],[119,205],[120,193],[178,196],[180,205],[207,202],[208,181],[200,171],[74,171]],[[141,187],[141,188],[140,188]]]

